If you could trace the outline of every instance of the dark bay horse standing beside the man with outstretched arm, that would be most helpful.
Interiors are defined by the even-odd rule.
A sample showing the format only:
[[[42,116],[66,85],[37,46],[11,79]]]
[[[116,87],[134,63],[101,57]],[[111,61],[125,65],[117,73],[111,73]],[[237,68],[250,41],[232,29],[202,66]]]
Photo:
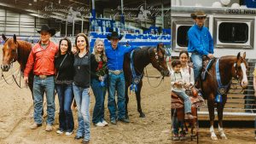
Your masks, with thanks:
[[[132,53],[132,52],[131,52]],[[125,117],[128,117],[127,105],[129,102],[128,97],[128,87],[132,84],[132,71],[131,71],[131,60],[133,61],[133,69],[136,75],[139,75],[139,83],[137,84],[136,98],[137,98],[137,111],[140,113],[140,118],[144,118],[145,114],[143,113],[141,107],[141,89],[143,87],[143,76],[144,68],[151,63],[154,68],[156,68],[161,75],[164,77],[169,77],[170,69],[166,64],[166,51],[160,47],[160,44],[157,47],[144,47],[140,49],[135,49],[133,51],[133,56],[131,59],[131,53],[125,55],[124,60],[124,74],[125,74]]]

